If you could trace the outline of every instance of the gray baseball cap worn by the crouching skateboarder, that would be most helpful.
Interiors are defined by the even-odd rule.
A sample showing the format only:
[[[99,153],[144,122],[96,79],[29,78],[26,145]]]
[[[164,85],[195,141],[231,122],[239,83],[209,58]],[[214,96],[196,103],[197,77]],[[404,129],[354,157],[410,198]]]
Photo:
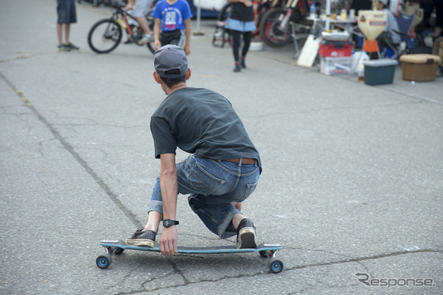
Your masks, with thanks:
[[[176,45],[165,45],[154,53],[155,71],[163,78],[179,78],[188,71],[188,58],[183,48]],[[180,73],[166,74],[166,71],[177,69]]]

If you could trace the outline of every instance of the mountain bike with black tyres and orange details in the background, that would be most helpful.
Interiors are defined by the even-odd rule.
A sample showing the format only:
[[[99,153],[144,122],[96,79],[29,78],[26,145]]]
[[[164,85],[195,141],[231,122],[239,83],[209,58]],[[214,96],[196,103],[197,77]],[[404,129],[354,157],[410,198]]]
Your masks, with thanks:
[[[143,37],[143,30],[138,26],[135,17],[126,10],[123,10],[126,3],[114,1],[111,5],[116,7],[116,11],[112,13],[112,16],[109,19],[101,19],[96,22],[89,30],[88,44],[92,51],[96,53],[109,53],[113,51],[118,44],[120,44],[123,37],[123,30],[126,31],[128,40],[131,43],[143,46],[138,44],[138,41]],[[154,17],[152,17],[151,12],[152,10],[146,15],[146,19],[151,30],[153,30]],[[130,25],[128,19],[137,25]],[[154,42],[149,42],[146,44],[152,53],[155,52],[153,43]]]

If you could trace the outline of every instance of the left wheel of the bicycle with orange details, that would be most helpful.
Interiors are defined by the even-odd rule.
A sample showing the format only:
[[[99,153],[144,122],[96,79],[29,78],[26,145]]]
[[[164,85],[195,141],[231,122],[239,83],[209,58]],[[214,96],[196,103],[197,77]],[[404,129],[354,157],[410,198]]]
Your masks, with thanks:
[[[114,19],[102,19],[89,30],[88,44],[96,53],[109,53],[120,44],[122,36],[122,28]]]

